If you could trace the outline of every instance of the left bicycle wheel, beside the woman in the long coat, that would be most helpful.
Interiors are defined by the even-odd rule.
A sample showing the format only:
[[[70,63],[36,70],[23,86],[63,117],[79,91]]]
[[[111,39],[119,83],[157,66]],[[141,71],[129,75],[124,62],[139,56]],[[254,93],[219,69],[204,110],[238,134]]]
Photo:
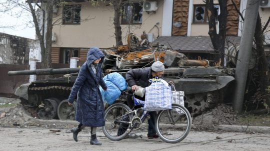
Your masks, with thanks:
[[[109,106],[105,111],[105,126],[102,127],[104,135],[112,140],[122,140],[128,133],[126,130],[131,127],[131,114],[126,114],[130,108],[122,103]],[[129,122],[129,123],[128,123]]]

